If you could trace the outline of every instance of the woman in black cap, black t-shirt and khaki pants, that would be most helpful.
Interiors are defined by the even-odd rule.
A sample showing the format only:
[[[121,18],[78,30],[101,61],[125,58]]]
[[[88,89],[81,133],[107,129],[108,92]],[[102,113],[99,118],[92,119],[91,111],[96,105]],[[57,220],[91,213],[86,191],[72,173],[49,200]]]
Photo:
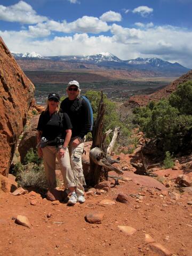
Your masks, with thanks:
[[[50,93],[47,100],[47,107],[39,117],[37,125],[38,155],[43,158],[45,173],[49,189],[57,185],[55,177],[56,157],[61,167],[61,173],[65,188],[71,192],[68,204],[75,204],[75,179],[70,166],[68,144],[71,138],[72,125],[66,113],[59,112],[59,94]],[[43,138],[44,137],[44,138]],[[39,144],[41,139],[46,139],[46,145]]]

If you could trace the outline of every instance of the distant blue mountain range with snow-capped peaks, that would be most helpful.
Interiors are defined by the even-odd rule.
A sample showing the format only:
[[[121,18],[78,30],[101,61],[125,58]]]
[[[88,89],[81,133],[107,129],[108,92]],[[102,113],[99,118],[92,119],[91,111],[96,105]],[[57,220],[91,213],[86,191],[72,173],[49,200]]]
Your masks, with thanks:
[[[121,60],[115,55],[108,52],[101,52],[95,55],[63,55],[44,57],[36,52],[17,53],[12,52],[17,60],[46,60],[46,61],[61,61],[68,63],[82,63],[86,65],[96,65],[99,68],[105,69],[123,69],[123,70],[149,70],[163,73],[164,75],[182,75],[190,69],[183,67],[178,62],[171,63],[158,58],[137,58],[131,60]],[[84,66],[82,66],[84,68]],[[87,68],[87,66],[86,66]]]

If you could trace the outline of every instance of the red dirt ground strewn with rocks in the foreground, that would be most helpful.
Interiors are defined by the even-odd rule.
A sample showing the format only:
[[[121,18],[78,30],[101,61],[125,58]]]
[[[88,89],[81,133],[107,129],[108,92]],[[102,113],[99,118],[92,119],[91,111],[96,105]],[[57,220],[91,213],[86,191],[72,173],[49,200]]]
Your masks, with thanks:
[[[155,179],[134,173],[137,151],[118,156],[124,174],[117,185],[109,178],[75,206],[33,189],[12,193],[13,177],[1,177],[0,255],[192,256],[192,157],[178,158],[173,169],[154,168]]]

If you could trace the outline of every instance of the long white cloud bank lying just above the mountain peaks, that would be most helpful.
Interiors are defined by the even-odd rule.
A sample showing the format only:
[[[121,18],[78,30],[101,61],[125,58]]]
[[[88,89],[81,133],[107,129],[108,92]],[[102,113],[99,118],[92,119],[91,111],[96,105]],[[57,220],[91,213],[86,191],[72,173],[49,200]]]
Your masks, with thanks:
[[[111,52],[122,60],[137,57],[157,57],[167,61],[177,61],[192,68],[192,32],[167,27],[141,29],[123,28],[113,24],[113,36],[89,36],[86,33],[74,36],[54,37],[53,39],[34,39],[40,30],[0,31],[10,51],[32,52],[41,55],[89,55],[98,52]],[[44,30],[46,34],[47,31]]]

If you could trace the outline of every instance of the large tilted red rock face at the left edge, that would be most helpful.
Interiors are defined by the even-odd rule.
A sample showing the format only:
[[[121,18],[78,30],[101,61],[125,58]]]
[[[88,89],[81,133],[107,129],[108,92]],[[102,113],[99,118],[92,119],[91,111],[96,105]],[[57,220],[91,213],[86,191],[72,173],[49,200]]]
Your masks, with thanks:
[[[0,173],[7,176],[35,87],[0,37]]]

